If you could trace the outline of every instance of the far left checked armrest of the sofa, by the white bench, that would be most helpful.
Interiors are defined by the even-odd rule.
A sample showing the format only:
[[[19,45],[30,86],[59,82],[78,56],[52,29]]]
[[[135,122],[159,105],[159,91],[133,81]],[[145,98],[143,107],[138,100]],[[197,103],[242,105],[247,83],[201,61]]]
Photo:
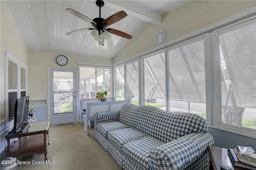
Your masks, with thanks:
[[[120,111],[102,111],[96,112],[93,115],[94,126],[98,123],[112,122],[118,121],[120,115]]]

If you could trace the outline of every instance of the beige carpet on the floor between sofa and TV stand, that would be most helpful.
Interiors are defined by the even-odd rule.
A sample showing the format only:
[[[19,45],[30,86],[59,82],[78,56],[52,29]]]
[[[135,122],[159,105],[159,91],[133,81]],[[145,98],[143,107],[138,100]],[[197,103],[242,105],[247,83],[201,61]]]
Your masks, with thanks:
[[[93,132],[94,129],[90,129],[86,136],[80,122],[51,125],[47,157],[55,164],[22,165],[20,170],[120,170],[115,160],[93,138]],[[32,163],[32,160],[43,161],[44,154],[35,154],[28,161]]]

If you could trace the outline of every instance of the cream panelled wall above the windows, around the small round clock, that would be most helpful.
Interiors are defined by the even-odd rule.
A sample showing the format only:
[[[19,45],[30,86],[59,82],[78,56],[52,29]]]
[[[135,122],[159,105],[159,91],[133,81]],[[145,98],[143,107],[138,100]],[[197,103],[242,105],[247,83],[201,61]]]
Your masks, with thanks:
[[[156,48],[159,44],[156,43],[155,37],[160,30],[166,32],[166,39],[161,43],[162,45],[253,6],[256,6],[255,0],[200,0],[190,2],[162,15],[162,24],[158,26],[150,24],[113,58],[113,63],[121,63],[123,60],[128,60],[144,51]]]

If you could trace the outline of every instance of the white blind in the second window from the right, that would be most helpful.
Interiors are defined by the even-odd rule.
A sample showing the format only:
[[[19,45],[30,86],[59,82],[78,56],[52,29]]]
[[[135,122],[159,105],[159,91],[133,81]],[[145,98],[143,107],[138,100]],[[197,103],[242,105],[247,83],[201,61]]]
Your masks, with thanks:
[[[168,51],[170,99],[205,103],[204,40]]]

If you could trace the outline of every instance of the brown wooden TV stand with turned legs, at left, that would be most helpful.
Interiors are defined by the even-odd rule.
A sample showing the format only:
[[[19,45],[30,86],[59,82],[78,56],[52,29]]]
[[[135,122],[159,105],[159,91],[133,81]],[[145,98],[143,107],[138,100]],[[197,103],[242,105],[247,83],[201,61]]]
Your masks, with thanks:
[[[44,154],[47,160],[47,150],[49,144],[50,121],[30,123],[28,129],[22,133],[10,133],[5,136],[7,140],[7,157],[20,157],[31,154]],[[10,139],[18,140],[10,146]]]

